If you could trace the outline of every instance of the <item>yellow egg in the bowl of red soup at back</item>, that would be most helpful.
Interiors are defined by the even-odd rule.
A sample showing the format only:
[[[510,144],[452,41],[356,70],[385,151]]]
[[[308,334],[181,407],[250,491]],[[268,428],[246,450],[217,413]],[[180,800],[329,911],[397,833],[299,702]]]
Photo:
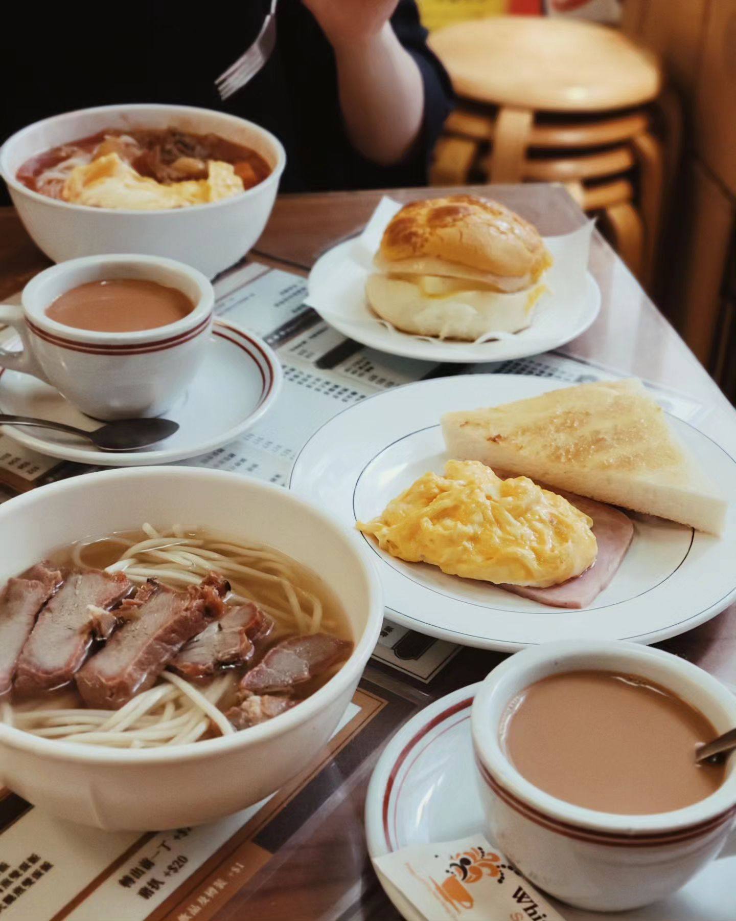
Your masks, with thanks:
[[[132,208],[151,211],[207,204],[243,192],[243,181],[232,164],[209,160],[207,179],[164,185],[141,176],[118,154],[107,154],[72,170],[64,183],[63,199],[97,208]]]

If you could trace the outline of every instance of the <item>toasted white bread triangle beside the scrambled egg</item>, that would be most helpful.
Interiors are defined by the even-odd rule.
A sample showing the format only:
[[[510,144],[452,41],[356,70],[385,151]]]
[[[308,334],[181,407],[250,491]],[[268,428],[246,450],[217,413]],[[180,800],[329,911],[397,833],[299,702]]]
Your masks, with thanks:
[[[599,502],[719,534],[727,502],[634,379],[443,415],[459,461],[529,476]]]

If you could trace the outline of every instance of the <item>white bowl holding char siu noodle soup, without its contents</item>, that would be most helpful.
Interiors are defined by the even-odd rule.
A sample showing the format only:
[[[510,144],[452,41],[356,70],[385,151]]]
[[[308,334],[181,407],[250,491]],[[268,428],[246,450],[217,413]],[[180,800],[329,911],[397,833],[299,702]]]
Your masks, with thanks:
[[[237,473],[145,467],[77,476],[0,507],[0,583],[88,535],[179,522],[268,543],[321,576],[351,624],[351,658],[280,717],[219,739],[119,751],[40,739],[0,724],[0,786],[63,819],[110,830],[164,829],[244,809],[325,745],[378,639],[383,600],[356,534],[282,487]]]

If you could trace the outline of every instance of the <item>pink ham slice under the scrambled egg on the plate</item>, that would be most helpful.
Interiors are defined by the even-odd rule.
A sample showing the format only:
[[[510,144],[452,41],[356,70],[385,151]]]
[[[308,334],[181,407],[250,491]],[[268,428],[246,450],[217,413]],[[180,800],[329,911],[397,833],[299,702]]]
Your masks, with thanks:
[[[615,576],[634,536],[634,524],[618,508],[560,489],[555,492],[564,495],[573,506],[592,518],[592,532],[598,542],[595,563],[581,576],[548,589],[524,585],[500,585],[499,588],[555,608],[587,608]]]

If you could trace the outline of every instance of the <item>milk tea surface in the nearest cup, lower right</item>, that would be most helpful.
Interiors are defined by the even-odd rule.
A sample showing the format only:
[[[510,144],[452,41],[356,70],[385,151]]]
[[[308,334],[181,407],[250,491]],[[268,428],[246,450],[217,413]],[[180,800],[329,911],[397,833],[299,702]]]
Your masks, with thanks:
[[[705,799],[725,766],[695,762],[719,733],[660,684],[614,671],[569,671],[531,684],[508,706],[501,740],[527,780],[558,799],[627,815]]]

